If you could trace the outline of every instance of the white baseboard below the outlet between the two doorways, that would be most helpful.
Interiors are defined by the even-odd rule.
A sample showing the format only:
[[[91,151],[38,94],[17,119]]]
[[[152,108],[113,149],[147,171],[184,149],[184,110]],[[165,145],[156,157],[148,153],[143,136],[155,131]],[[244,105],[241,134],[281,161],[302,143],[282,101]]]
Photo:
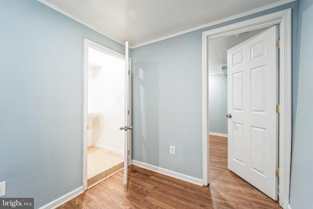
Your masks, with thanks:
[[[195,178],[192,176],[187,176],[185,174],[181,174],[181,173],[178,173],[178,172],[175,172],[172,170],[157,167],[155,165],[151,165],[148,163],[142,163],[142,162],[135,161],[135,160],[133,160],[133,165],[136,165],[138,167],[142,167],[142,168],[145,168],[147,170],[151,170],[151,171],[154,171],[156,173],[160,173],[160,174],[163,174],[166,176],[170,176],[170,177],[173,177],[173,178],[185,181],[185,182],[189,182],[189,183],[192,183],[195,185],[203,186],[203,180],[202,179],[198,179],[198,178]]]

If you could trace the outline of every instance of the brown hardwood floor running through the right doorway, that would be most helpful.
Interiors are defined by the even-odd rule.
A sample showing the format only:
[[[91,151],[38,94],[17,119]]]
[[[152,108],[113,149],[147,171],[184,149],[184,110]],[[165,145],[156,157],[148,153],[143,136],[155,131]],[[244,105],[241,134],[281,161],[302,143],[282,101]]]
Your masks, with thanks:
[[[59,209],[281,209],[227,169],[227,138],[210,136],[210,186],[196,186],[140,167],[123,171]]]

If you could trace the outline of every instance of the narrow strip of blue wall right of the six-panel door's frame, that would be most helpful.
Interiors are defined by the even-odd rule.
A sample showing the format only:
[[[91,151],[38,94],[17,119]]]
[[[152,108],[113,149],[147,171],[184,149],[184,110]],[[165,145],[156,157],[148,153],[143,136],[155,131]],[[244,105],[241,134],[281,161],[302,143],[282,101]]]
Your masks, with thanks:
[[[291,155],[292,209],[313,209],[313,0],[299,1],[296,96]]]

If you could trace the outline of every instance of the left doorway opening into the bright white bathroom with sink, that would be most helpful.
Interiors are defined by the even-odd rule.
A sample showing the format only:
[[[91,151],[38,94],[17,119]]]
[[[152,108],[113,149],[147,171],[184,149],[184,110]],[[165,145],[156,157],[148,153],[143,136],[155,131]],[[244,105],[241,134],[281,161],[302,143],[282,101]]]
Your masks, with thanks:
[[[85,39],[83,187],[124,166],[125,55]],[[128,92],[127,92],[128,93]]]

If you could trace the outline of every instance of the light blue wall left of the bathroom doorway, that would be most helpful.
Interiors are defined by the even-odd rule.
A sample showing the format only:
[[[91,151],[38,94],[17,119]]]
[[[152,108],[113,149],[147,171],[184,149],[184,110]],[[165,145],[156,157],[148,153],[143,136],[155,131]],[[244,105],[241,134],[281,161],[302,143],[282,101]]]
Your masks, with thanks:
[[[124,46],[36,0],[0,0],[0,182],[39,208],[82,186],[83,38]]]

